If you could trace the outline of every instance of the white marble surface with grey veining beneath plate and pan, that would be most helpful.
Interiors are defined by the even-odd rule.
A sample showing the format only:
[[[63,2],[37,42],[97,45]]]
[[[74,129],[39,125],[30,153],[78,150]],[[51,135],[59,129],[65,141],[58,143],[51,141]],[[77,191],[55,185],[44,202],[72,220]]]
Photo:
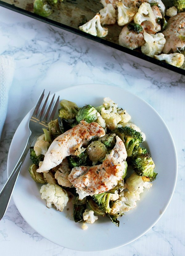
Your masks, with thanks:
[[[129,90],[146,100],[166,122],[179,161],[177,185],[170,205],[154,227],[138,240],[97,253],[69,250],[35,232],[11,199],[0,221],[1,256],[183,255],[185,76],[2,7],[0,54],[14,57],[16,64],[0,143],[0,189],[7,178],[7,156],[14,132],[43,88],[55,92],[77,84],[102,83]]]

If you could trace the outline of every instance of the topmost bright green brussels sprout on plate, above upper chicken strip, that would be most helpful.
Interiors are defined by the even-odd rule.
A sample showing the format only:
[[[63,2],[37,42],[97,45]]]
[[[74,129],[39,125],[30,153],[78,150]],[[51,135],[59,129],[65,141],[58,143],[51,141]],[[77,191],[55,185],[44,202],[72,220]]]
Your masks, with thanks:
[[[80,123],[81,120],[85,120],[88,123],[92,123],[98,118],[98,111],[91,105],[82,107],[76,114],[76,121]]]

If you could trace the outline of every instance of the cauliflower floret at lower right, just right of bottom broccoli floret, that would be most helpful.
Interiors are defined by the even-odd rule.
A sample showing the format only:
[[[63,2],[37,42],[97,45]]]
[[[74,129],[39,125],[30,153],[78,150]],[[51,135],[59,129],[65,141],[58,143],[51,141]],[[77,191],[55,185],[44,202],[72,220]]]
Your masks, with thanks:
[[[120,193],[119,199],[114,202],[111,208],[111,215],[116,215],[117,217],[123,215],[124,212],[128,212],[136,207],[136,202],[140,200],[138,193],[130,191],[122,191]]]

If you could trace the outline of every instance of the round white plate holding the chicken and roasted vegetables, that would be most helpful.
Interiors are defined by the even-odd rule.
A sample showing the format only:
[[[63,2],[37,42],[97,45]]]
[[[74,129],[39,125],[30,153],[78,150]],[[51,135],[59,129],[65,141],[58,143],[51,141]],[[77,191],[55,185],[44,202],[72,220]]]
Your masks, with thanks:
[[[108,218],[99,218],[88,229],[81,228],[72,217],[71,203],[64,212],[47,208],[40,198],[40,184],[28,172],[29,154],[14,188],[14,202],[27,223],[48,240],[73,250],[100,251],[126,245],[146,233],[162,216],[173,195],[177,179],[177,155],[171,134],[158,113],[145,101],[118,87],[102,84],[79,85],[56,93],[61,99],[98,106],[110,97],[126,109],[132,121],[146,134],[147,144],[158,173],[150,190],[141,194],[137,207],[119,218],[116,227]],[[27,141],[29,112],[14,134],[8,154],[7,172],[11,173]],[[69,210],[67,210],[69,208]]]

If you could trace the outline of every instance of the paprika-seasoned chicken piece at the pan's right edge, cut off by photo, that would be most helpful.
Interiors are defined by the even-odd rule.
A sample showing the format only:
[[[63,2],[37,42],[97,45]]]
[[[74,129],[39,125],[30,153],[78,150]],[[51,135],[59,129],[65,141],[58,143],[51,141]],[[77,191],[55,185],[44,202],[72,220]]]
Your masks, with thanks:
[[[177,47],[184,48],[185,41],[185,12],[180,12],[168,20],[167,28],[162,31],[166,43],[162,50],[163,53],[177,52]]]

